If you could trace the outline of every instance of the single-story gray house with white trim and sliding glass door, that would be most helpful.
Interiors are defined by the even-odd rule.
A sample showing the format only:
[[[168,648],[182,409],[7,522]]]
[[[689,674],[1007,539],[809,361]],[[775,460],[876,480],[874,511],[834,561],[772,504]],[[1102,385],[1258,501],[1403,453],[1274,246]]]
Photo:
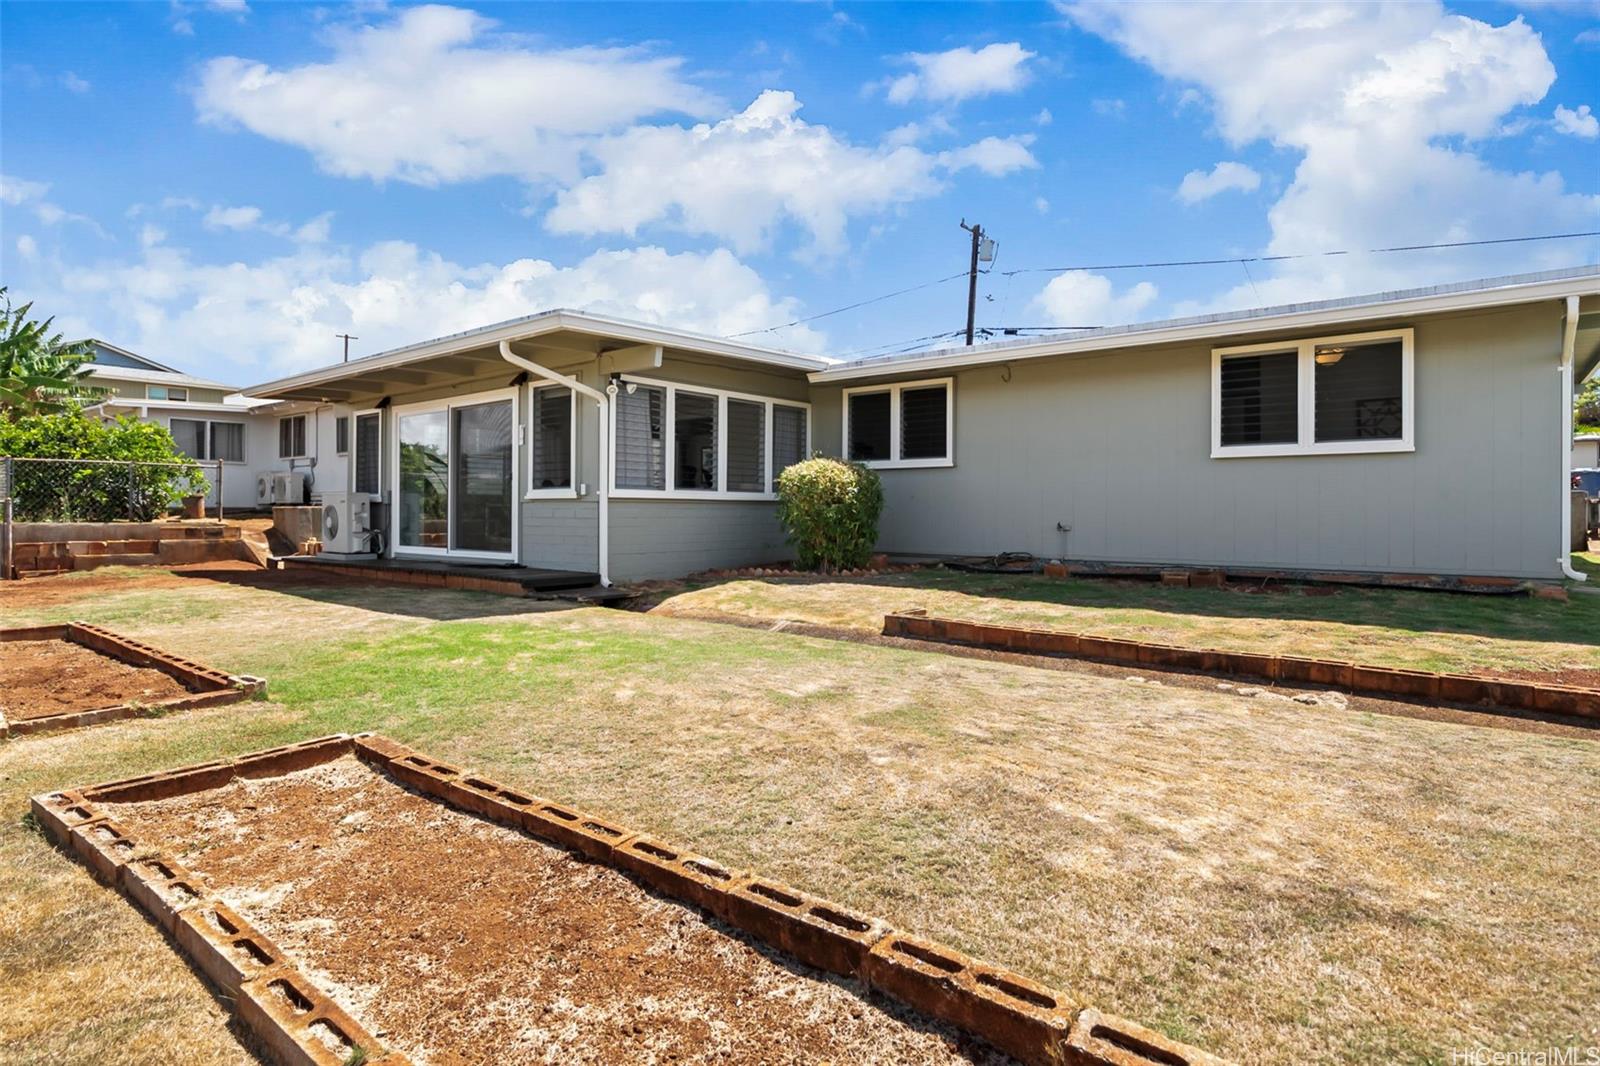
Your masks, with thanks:
[[[856,362],[550,311],[245,394],[354,419],[398,557],[782,559],[816,450],[880,469],[888,552],[1558,578],[1597,362],[1584,267]]]

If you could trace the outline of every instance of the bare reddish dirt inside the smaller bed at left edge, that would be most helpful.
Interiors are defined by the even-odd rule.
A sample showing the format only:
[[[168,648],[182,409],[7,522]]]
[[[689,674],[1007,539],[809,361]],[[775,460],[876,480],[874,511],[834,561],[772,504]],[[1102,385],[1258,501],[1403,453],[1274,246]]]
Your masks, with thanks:
[[[16,640],[0,655],[0,712],[11,720],[189,695],[174,677],[70,640]]]

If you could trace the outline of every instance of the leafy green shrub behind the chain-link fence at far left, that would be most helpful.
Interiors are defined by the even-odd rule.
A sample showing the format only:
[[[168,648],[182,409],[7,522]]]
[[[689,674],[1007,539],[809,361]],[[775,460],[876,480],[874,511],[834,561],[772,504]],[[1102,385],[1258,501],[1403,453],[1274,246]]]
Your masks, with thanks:
[[[11,496],[18,522],[149,522],[184,496],[211,488],[165,426],[126,416],[110,424],[82,411],[0,421],[0,456],[14,458]],[[144,463],[171,466],[138,466]]]

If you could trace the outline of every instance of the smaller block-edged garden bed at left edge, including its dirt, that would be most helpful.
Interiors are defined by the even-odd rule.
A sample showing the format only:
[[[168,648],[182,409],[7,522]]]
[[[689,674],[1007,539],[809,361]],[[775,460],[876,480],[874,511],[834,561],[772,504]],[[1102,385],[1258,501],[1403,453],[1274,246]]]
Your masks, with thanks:
[[[0,736],[208,707],[266,688],[99,626],[0,629]]]

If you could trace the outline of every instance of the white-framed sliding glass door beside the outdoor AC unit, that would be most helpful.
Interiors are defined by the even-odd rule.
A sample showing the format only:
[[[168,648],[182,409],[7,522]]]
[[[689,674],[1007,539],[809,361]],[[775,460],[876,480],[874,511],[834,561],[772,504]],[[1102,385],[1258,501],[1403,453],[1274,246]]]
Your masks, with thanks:
[[[395,551],[512,559],[515,394],[395,410]]]

